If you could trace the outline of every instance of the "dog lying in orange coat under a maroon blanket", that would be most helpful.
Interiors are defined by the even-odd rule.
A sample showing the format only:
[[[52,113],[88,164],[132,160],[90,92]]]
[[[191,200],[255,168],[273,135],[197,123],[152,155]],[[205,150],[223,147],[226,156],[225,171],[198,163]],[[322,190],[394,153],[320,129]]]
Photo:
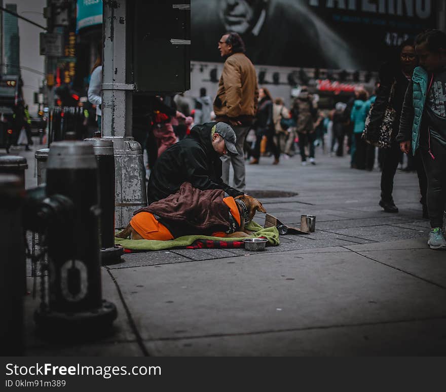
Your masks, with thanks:
[[[116,235],[131,240],[173,240],[199,234],[212,237],[248,237],[245,226],[262,203],[246,194],[235,198],[221,189],[200,190],[184,182],[167,198],[141,208]]]

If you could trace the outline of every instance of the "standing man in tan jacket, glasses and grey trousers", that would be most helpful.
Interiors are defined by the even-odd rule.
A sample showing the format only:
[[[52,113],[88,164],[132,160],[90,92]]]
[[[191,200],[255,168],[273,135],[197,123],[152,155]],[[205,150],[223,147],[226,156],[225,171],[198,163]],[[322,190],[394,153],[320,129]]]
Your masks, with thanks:
[[[237,136],[238,155],[221,157],[222,176],[229,183],[229,164],[234,169],[235,189],[245,191],[245,154],[243,144],[257,111],[257,75],[251,61],[244,54],[245,45],[239,34],[224,34],[218,41],[221,57],[226,58],[214,100],[216,122],[232,126]]]

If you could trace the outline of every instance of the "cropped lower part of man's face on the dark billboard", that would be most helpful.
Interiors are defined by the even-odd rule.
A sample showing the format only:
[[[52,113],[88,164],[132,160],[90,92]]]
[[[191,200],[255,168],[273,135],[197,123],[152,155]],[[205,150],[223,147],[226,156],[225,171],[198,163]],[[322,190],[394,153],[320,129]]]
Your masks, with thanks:
[[[249,31],[267,3],[268,0],[220,0],[219,15],[226,31]]]

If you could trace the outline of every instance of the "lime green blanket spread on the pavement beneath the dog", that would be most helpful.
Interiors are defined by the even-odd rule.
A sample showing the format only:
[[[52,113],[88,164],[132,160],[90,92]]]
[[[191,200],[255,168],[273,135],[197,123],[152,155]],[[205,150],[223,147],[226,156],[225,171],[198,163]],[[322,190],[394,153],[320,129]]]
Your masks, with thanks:
[[[246,229],[254,231],[250,237],[265,237],[271,245],[279,245],[279,231],[276,227],[263,228],[255,222],[250,222]],[[156,240],[124,240],[115,238],[115,244],[123,246],[125,249],[131,250],[164,250],[171,248],[180,248],[191,245],[196,240],[218,240],[218,241],[243,241],[244,238],[222,238],[210,236],[183,236],[169,241]]]

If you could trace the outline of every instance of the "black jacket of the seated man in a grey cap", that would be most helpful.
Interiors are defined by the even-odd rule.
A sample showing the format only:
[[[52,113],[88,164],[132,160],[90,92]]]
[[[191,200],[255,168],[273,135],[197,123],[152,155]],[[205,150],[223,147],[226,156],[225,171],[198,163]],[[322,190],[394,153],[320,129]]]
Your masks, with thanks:
[[[221,180],[220,156],[211,142],[215,124],[196,125],[188,137],[161,154],[148,180],[149,205],[175,193],[186,181],[201,190],[223,189],[232,197],[243,194]]]

